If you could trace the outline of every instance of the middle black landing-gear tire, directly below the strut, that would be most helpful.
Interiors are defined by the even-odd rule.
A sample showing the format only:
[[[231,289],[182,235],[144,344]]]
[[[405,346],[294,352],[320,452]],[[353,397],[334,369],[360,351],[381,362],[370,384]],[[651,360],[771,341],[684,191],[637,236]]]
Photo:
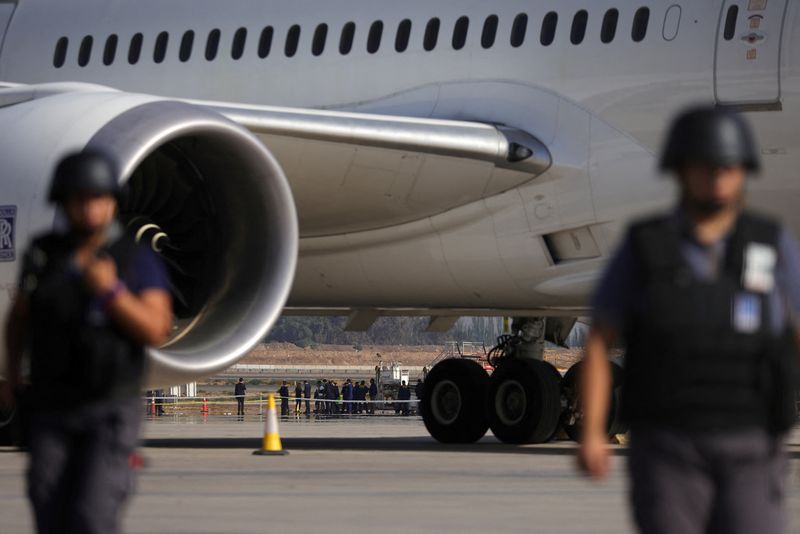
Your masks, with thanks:
[[[561,414],[561,375],[547,362],[504,360],[489,380],[487,413],[504,443],[549,441]]]

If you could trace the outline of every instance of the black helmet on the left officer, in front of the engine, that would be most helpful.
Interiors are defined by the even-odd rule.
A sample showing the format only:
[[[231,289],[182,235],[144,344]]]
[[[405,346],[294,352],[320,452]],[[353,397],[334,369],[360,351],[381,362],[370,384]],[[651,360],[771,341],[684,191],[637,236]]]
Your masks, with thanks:
[[[74,193],[108,193],[119,197],[117,176],[113,160],[108,155],[95,150],[74,152],[56,166],[48,200],[61,203]]]

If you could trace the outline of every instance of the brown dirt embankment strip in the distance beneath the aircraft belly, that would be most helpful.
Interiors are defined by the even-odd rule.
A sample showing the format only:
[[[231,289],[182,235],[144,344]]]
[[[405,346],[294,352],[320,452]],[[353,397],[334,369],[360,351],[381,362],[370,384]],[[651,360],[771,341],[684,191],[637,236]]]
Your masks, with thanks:
[[[400,362],[409,366],[425,366],[441,354],[436,345],[364,345],[360,349],[348,345],[316,345],[298,347],[291,343],[265,343],[257,346],[240,363],[262,365],[378,365]],[[579,360],[581,349],[546,349],[545,359],[557,367],[569,367]]]

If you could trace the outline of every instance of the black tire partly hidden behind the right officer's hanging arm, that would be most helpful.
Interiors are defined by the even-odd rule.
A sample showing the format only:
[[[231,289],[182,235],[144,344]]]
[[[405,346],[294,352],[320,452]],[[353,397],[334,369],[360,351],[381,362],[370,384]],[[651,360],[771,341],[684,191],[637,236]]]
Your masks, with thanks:
[[[606,431],[610,438],[617,434],[624,434],[628,429],[621,418],[622,367],[613,361],[610,361],[609,365],[611,366],[612,388],[608,404]],[[573,441],[581,440],[581,432],[583,430],[583,420],[578,410],[578,380],[582,366],[583,362],[578,362],[570,367],[564,375],[562,384],[565,407],[561,413],[561,425],[564,428],[564,432]]]

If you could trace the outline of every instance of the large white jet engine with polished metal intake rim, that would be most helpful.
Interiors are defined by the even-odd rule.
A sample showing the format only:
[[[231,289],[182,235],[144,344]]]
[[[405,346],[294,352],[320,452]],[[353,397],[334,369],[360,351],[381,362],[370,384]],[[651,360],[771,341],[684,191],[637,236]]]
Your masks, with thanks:
[[[149,384],[224,369],[266,335],[291,289],[297,217],[283,171],[247,130],[198,106],[103,88],[0,108],[0,129],[0,207],[16,208],[17,259],[58,218],[46,202],[56,162],[84,147],[116,158],[128,184],[120,219],[161,254],[173,283],[176,330],[150,351]],[[0,312],[17,265],[0,263]]]

